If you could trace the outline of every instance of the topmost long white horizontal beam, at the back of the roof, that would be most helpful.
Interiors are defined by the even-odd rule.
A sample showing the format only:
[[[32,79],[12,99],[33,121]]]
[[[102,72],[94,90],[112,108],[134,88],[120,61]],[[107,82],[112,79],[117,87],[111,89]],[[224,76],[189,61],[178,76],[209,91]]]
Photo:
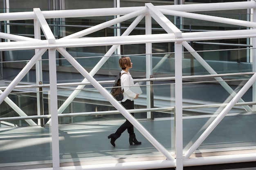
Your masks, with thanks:
[[[222,2],[206,4],[182,4],[182,5],[160,5],[155,6],[158,9],[170,9],[175,11],[219,11],[234,9],[256,8],[255,1],[244,2]],[[141,9],[141,7],[121,7],[121,8],[98,8],[98,9],[71,9],[58,11],[42,11],[43,16],[47,18],[73,18],[73,17],[91,17],[91,16],[115,16],[125,15]],[[0,13],[0,20],[33,20],[36,19],[34,12],[13,12]]]

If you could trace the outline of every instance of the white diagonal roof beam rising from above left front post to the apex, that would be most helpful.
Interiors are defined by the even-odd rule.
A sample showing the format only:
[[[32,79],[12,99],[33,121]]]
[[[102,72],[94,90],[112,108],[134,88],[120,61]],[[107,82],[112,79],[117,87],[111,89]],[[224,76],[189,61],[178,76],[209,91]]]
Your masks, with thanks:
[[[125,20],[129,20],[131,18],[137,17],[137,16],[139,16],[141,14],[146,13],[146,11],[147,11],[146,7],[142,7],[138,11],[135,11],[135,12],[132,12],[132,13],[128,13],[128,14],[126,14],[124,16],[119,17],[119,18],[115,18],[115,19],[109,20],[109,21],[101,23],[99,25],[95,25],[95,26],[90,27],[88,29],[84,29],[82,31],[76,32],[74,34],[71,34],[69,36],[65,36],[65,37],[63,37],[61,39],[80,38],[82,36],[86,36],[86,35],[91,34],[93,32],[96,32],[96,31],[99,31],[101,29],[104,29],[104,28],[110,27],[112,25],[115,25],[117,23],[123,22]]]

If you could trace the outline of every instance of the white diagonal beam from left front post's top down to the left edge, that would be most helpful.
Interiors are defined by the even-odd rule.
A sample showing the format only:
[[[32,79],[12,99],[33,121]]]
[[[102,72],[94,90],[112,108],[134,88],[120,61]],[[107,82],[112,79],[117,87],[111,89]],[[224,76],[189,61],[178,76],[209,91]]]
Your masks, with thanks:
[[[4,99],[11,93],[14,87],[22,80],[22,78],[29,72],[29,70],[35,65],[36,61],[40,56],[44,54],[47,49],[40,49],[32,58],[29,60],[27,65],[19,72],[19,74],[13,79],[13,81],[8,85],[4,92],[0,95],[0,104]]]

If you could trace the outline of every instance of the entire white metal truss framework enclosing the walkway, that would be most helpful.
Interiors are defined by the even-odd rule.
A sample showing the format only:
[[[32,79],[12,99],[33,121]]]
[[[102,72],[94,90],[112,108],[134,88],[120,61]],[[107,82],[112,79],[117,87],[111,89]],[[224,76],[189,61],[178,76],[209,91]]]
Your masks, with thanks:
[[[191,158],[191,154],[198,148],[198,146],[206,139],[212,130],[220,123],[229,110],[234,107],[237,102],[243,102],[241,97],[249,87],[256,81],[256,74],[254,74],[249,81],[243,86],[238,93],[235,93],[229,85],[222,82],[222,86],[233,96],[233,100],[220,112],[211,125],[204,131],[204,133],[193,143],[191,148],[183,154],[182,145],[182,48],[186,48],[193,57],[198,60],[200,64],[207,69],[210,74],[217,74],[203,59],[202,57],[189,45],[188,41],[200,40],[219,40],[219,39],[232,39],[232,38],[252,38],[253,48],[256,47],[256,22],[243,21],[230,18],[221,18],[216,16],[207,16],[202,14],[192,13],[193,11],[216,11],[216,10],[231,10],[231,9],[251,9],[253,11],[253,19],[256,20],[255,10],[256,1],[248,2],[227,2],[227,3],[214,3],[214,4],[186,4],[186,5],[167,5],[167,6],[154,6],[153,4],[146,3],[144,7],[124,7],[124,8],[109,8],[109,9],[78,9],[78,10],[63,10],[63,11],[41,11],[34,9],[33,12],[16,12],[16,13],[0,13],[0,20],[34,20],[34,38],[25,36],[18,36],[0,32],[0,38],[8,40],[7,42],[0,42],[0,51],[11,50],[26,50],[35,49],[35,55],[22,69],[22,71],[14,78],[4,91],[1,91],[0,103],[7,102],[20,116],[27,116],[20,108],[18,108],[9,98],[9,93],[18,85],[25,74],[36,65],[36,69],[40,70],[39,59],[48,50],[49,54],[49,78],[50,78],[50,94],[51,94],[51,128],[52,128],[52,161],[53,168],[44,168],[44,170],[53,169],[111,169],[111,170],[125,170],[125,169],[147,169],[147,168],[169,168],[175,167],[177,170],[182,170],[184,166],[199,166],[206,164],[218,163],[235,163],[235,162],[249,162],[256,160],[256,154],[236,154],[227,156],[216,157],[197,157]],[[179,16],[184,18],[193,18],[197,20],[205,20],[211,22],[220,22],[229,25],[239,25],[248,27],[250,29],[244,30],[230,30],[230,31],[207,31],[207,32],[189,32],[183,33],[177,28],[165,15]],[[84,29],[74,34],[56,39],[52,30],[50,29],[47,19],[48,18],[74,18],[74,17],[89,17],[89,16],[119,16],[115,19],[106,21],[99,25]],[[83,38],[84,36],[101,29],[110,27],[112,25],[124,22],[131,18],[135,18],[132,24],[126,29],[121,36],[114,37],[92,37]],[[129,34],[136,27],[136,25],[143,19],[146,20],[146,34],[145,35],[132,35]],[[154,19],[165,31],[165,34],[151,34],[151,19]],[[46,40],[41,40],[40,31],[43,31]],[[121,107],[110,93],[104,89],[94,78],[94,74],[101,68],[101,66],[108,60],[109,56],[119,47],[119,45],[128,44],[146,44],[146,65],[147,65],[147,78],[152,73],[151,56],[152,43],[157,42],[175,42],[175,152],[173,157],[161,143],[159,143],[151,134],[132,117],[127,110]],[[88,73],[66,50],[66,47],[92,47],[92,46],[112,46],[105,54],[97,65]],[[137,161],[132,163],[115,163],[104,165],[88,165],[77,167],[60,167],[59,158],[59,139],[58,139],[58,114],[61,114],[67,105],[79,93],[75,90],[72,95],[63,103],[60,108],[57,108],[57,79],[56,79],[56,50],[61,53],[83,76],[84,82],[89,81],[110,103],[123,114],[134,126],[143,134],[150,143],[152,143],[159,152],[161,152],[166,159],[155,161]],[[253,51],[253,62],[256,62],[255,52]],[[255,70],[254,64],[254,70]],[[38,78],[40,76],[38,75]],[[216,78],[221,80],[221,78]],[[39,81],[37,81],[39,82]],[[81,89],[80,85],[77,89]],[[39,87],[39,86],[38,86]],[[148,89],[150,90],[150,89]],[[150,99],[148,99],[150,100]],[[252,111],[253,109],[247,105],[244,106],[245,110]],[[57,114],[58,113],[58,114]],[[26,119],[30,125],[35,125],[31,119]]]

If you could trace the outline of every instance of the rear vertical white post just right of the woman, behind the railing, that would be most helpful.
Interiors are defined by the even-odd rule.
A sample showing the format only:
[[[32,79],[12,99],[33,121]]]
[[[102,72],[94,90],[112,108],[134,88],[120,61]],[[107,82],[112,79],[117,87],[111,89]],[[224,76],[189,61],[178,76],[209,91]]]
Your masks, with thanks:
[[[149,13],[145,15],[145,27],[146,35],[152,34],[152,23],[151,16]],[[152,75],[152,43],[146,43],[146,78],[150,78]],[[146,94],[147,94],[147,108],[150,108],[151,98],[150,98],[150,82],[146,83]],[[147,112],[147,119],[151,118],[151,112]]]

